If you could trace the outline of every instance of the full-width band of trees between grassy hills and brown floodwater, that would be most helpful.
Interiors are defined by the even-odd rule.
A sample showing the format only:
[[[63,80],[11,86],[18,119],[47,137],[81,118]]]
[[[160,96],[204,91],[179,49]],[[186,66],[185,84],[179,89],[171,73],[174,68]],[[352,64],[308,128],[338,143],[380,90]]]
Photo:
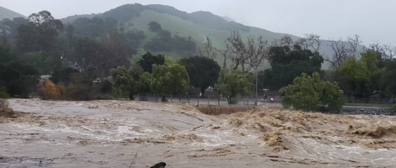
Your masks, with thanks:
[[[245,38],[235,30],[226,39],[224,50],[214,48],[207,38],[204,48],[199,50],[200,57],[184,57],[173,62],[164,55],[145,52],[132,56],[138,53],[145,33],[125,30],[123,23],[112,18],[81,18],[72,24],[62,24],[51,13],[42,11],[27,20],[4,19],[0,25],[3,43],[0,47],[0,86],[5,86],[11,96],[28,95],[34,90],[38,75],[52,74],[51,81],[54,85],[60,84],[60,88],[63,84],[65,88],[75,88],[76,82],[92,84],[99,77],[105,80],[101,88],[103,93],[113,88],[115,95],[128,95],[131,99],[136,94],[155,93],[165,101],[167,95],[184,94],[188,86],[200,88],[202,94],[208,86],[214,86],[215,91],[233,104],[237,96],[250,95],[254,83],[260,90],[277,91],[294,84],[296,77],[304,73],[317,73],[322,80],[338,82],[348,97],[369,97],[378,92],[385,98],[396,95],[394,50],[390,46],[370,45],[360,55],[358,36],[346,42],[330,40],[327,45],[334,50],[330,59],[320,55],[322,41],[317,35],[306,35],[297,41],[286,36],[270,44],[263,37]],[[180,50],[195,49],[191,38],[172,36],[154,21],[148,27],[158,35],[151,42],[172,44],[172,48],[180,47]],[[219,54],[224,58],[222,67],[214,61]],[[331,62],[329,71],[321,69],[325,60]],[[259,71],[267,61],[271,68]],[[229,62],[231,65],[227,66]],[[73,77],[76,74],[83,77]],[[113,82],[108,80],[110,75]],[[83,80],[73,83],[69,82],[70,78]],[[308,79],[306,75],[302,78]],[[315,92],[319,94],[314,96],[313,102],[331,100],[324,94],[329,90],[320,86],[332,87],[333,83],[321,83],[316,75],[311,78],[315,78],[311,83],[318,87]],[[288,93],[287,88],[282,91]],[[331,89],[335,90],[335,87]]]

